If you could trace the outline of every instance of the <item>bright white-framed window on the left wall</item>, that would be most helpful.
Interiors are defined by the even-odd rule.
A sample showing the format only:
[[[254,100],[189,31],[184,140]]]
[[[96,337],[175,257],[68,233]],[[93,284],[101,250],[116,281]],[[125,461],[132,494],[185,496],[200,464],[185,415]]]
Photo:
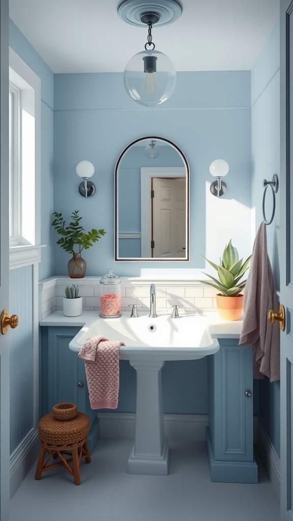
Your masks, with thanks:
[[[40,245],[40,94],[40,79],[10,49],[10,253]]]

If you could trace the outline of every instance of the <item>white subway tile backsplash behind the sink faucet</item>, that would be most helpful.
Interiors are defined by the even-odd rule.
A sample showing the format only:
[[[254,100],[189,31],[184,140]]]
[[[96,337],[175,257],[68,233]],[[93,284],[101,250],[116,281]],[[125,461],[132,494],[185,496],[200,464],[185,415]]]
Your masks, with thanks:
[[[84,277],[70,279],[69,277],[55,277],[39,283],[40,291],[40,320],[62,309],[63,296],[66,286],[72,283],[79,287],[79,294],[83,297],[84,311],[100,311],[100,279],[101,277]],[[156,286],[156,309],[161,312],[172,313],[172,306],[181,306],[181,311],[201,312],[215,311],[216,290],[207,284],[196,280],[155,280],[145,278],[121,278],[121,311],[128,311],[129,306],[137,304],[139,311],[148,311],[150,308],[150,285]]]

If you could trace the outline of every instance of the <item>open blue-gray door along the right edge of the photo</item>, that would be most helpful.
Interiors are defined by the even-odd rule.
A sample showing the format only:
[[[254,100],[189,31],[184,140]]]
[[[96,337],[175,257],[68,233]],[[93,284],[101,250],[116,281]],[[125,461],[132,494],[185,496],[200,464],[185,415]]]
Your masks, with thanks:
[[[290,87],[291,84],[291,87]],[[280,0],[281,521],[293,519],[293,1]]]

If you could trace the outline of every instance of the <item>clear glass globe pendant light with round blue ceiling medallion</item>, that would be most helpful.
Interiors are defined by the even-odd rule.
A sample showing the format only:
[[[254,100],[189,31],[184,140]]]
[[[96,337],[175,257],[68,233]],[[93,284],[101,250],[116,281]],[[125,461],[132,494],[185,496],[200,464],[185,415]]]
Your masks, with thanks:
[[[175,89],[176,70],[164,53],[155,50],[152,28],[171,23],[181,15],[174,0],[151,2],[150,7],[139,0],[126,0],[118,8],[119,16],[136,26],[148,26],[148,41],[141,51],[128,61],[124,70],[126,92],[140,105],[153,107],[166,100]]]

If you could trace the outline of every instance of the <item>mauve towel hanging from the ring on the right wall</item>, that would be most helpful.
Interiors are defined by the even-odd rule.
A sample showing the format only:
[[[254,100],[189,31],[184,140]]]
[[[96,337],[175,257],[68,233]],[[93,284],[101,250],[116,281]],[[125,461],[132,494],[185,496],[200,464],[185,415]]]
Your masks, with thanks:
[[[270,259],[267,255],[266,225],[261,223],[253,244],[250,271],[244,292],[244,319],[239,345],[253,347],[253,378],[280,379],[280,328],[270,324],[268,311],[279,312]]]

